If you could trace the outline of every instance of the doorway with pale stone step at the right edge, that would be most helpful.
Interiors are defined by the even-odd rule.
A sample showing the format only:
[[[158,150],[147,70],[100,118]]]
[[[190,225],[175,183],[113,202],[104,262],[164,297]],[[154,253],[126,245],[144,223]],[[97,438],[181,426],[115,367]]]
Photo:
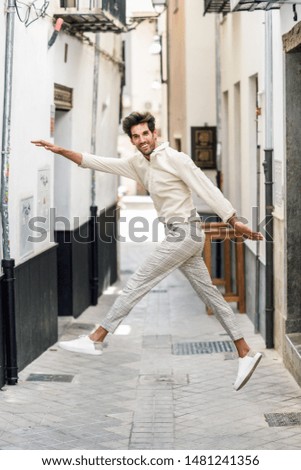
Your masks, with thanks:
[[[285,55],[286,81],[286,353],[285,363],[301,385],[301,35]]]

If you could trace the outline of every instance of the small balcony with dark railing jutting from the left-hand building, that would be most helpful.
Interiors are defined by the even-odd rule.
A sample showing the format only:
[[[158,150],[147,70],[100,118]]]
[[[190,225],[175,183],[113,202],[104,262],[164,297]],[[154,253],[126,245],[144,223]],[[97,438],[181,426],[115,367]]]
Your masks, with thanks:
[[[71,33],[126,31],[126,0],[60,0],[54,18]]]

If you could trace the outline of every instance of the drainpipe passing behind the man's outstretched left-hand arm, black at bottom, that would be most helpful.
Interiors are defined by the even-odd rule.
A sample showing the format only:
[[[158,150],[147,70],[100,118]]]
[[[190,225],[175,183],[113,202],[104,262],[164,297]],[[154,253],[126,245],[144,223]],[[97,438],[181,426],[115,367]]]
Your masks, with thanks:
[[[96,153],[96,127],[97,127],[97,105],[98,105],[98,83],[99,83],[99,62],[100,62],[100,36],[96,33],[94,72],[93,72],[93,103],[92,103],[92,129],[91,129],[91,153]],[[95,205],[96,189],[95,170],[91,171],[91,207],[90,207],[90,242],[91,242],[91,277],[90,293],[91,305],[98,303],[98,230],[97,230],[97,206]]]

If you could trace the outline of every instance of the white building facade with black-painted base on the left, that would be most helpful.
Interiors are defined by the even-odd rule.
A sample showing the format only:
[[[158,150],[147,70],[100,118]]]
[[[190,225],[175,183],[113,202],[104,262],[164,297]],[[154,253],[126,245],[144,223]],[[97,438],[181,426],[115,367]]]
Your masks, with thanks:
[[[117,155],[125,2],[118,2],[113,14],[110,1],[99,8],[98,2],[81,0],[79,9],[75,2],[59,0],[41,0],[35,9],[30,2],[5,3],[0,99],[2,110],[11,90],[11,116],[7,119],[4,109],[0,115],[3,136],[8,126],[10,135],[8,150],[2,139],[9,154],[8,220],[4,227],[2,218],[2,229],[9,233],[9,257],[15,263],[17,363],[22,369],[56,342],[58,315],[77,317],[117,278],[117,178],[76,167],[31,140]],[[8,38],[9,18],[14,31]],[[7,56],[13,73],[5,87]],[[110,233],[105,220],[111,222]],[[7,258],[2,241],[2,258]],[[3,275],[2,296],[7,295],[4,281]],[[6,315],[4,307],[2,333]],[[3,371],[5,351],[1,356]]]

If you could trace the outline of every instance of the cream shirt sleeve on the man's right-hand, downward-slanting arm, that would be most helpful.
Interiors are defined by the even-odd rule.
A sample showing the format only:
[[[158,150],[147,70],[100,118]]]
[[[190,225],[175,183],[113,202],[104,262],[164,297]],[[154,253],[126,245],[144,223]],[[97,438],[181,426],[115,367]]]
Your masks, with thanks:
[[[227,222],[236,214],[236,210],[228,199],[188,155],[181,153],[173,160],[179,172],[179,177],[220,216],[223,222]]]

